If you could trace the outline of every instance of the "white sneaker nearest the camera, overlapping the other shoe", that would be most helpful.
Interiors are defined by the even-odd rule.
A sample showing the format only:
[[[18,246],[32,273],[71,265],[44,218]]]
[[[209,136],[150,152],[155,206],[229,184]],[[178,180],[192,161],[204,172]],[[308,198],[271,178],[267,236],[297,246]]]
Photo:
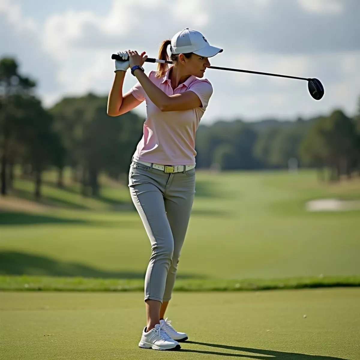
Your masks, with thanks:
[[[153,350],[178,350],[181,348],[177,341],[168,336],[161,324],[156,324],[155,328],[148,332],[145,332],[145,329],[139,347]]]

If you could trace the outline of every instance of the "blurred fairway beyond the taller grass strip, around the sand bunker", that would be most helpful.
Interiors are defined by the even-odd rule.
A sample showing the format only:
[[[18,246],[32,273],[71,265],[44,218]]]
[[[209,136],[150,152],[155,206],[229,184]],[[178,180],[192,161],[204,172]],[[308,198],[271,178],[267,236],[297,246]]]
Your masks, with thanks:
[[[46,186],[63,202],[99,201],[103,210],[0,213],[0,274],[143,279],[150,243],[138,213],[109,211],[130,202],[126,186],[105,183],[107,202]],[[318,197],[360,198],[360,182],[320,184],[312,171],[199,171],[179,278],[360,275],[360,211],[306,212]]]

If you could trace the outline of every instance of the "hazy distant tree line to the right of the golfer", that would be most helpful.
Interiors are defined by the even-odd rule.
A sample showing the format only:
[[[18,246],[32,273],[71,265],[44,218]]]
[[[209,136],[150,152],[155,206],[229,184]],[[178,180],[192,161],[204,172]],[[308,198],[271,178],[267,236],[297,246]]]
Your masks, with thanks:
[[[308,120],[268,122],[219,121],[199,127],[197,166],[280,169],[295,162],[296,167],[319,169],[321,177],[324,169],[330,170],[330,181],[359,173],[360,98],[359,115],[354,118],[337,109]]]

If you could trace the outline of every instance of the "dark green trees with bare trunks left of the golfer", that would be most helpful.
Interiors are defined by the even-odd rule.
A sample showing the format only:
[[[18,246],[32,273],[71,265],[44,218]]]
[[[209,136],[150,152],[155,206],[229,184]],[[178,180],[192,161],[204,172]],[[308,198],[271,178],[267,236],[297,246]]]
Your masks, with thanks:
[[[83,195],[98,195],[100,172],[117,179],[126,172],[141,138],[143,119],[133,112],[116,119],[107,115],[107,96],[66,97],[49,109],[34,95],[35,81],[19,74],[13,58],[0,60],[1,194],[12,187],[14,165],[35,181],[54,167],[58,186],[63,170],[72,168]]]

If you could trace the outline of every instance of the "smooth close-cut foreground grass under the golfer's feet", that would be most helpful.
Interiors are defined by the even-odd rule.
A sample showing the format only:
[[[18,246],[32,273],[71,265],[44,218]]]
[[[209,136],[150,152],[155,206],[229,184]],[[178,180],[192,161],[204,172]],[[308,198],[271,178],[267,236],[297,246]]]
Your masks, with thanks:
[[[360,359],[360,289],[175,293],[167,312],[189,341],[138,347],[143,294],[0,292],[0,358]],[[306,317],[304,317],[306,315]]]

